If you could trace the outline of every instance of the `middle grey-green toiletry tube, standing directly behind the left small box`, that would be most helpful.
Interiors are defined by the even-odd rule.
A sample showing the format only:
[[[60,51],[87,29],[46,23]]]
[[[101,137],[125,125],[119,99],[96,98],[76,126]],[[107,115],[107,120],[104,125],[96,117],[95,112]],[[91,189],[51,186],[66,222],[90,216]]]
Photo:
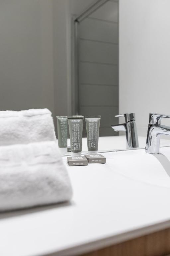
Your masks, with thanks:
[[[81,156],[84,116],[68,116],[72,156]]]

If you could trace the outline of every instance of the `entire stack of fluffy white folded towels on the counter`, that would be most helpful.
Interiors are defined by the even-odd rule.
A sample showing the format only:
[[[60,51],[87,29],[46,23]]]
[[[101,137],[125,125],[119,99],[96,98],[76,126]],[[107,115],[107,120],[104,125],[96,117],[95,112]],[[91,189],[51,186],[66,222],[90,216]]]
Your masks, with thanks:
[[[0,111],[0,211],[70,200],[48,109]]]

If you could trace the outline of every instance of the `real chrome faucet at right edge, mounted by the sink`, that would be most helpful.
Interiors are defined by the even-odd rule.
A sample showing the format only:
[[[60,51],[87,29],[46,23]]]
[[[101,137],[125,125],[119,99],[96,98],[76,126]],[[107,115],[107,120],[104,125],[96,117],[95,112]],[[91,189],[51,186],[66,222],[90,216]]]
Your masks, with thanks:
[[[169,115],[149,114],[145,152],[150,154],[159,153],[160,135],[170,135],[170,127],[161,125],[161,118],[170,118]]]

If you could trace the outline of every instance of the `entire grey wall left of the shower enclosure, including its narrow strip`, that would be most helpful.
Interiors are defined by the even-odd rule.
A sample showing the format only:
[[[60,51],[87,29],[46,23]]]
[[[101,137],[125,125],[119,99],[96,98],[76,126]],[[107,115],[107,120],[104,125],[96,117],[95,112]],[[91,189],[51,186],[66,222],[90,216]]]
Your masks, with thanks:
[[[0,1],[0,110],[71,115],[71,16],[92,2]]]

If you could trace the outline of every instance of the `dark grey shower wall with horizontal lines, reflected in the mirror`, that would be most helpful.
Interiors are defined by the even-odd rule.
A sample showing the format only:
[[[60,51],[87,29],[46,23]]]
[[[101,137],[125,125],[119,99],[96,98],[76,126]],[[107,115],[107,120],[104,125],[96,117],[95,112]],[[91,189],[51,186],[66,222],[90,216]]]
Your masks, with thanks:
[[[118,2],[110,0],[79,25],[79,114],[101,115],[100,136],[118,135],[118,93]]]

